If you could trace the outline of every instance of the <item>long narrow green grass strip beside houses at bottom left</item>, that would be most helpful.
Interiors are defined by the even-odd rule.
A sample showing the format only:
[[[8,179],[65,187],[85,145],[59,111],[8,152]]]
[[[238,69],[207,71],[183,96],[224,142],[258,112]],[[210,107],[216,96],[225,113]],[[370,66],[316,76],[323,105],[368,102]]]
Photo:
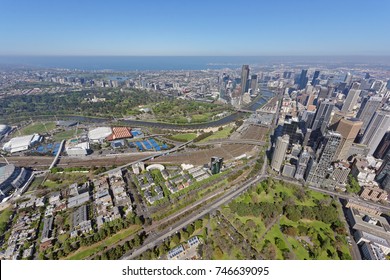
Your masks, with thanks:
[[[113,236],[106,238],[100,242],[97,242],[91,246],[81,247],[76,252],[66,257],[68,260],[83,260],[99,251],[103,251],[105,247],[111,246],[117,243],[119,240],[126,238],[129,235],[136,233],[141,227],[138,225],[132,225],[127,229],[121,230]]]

